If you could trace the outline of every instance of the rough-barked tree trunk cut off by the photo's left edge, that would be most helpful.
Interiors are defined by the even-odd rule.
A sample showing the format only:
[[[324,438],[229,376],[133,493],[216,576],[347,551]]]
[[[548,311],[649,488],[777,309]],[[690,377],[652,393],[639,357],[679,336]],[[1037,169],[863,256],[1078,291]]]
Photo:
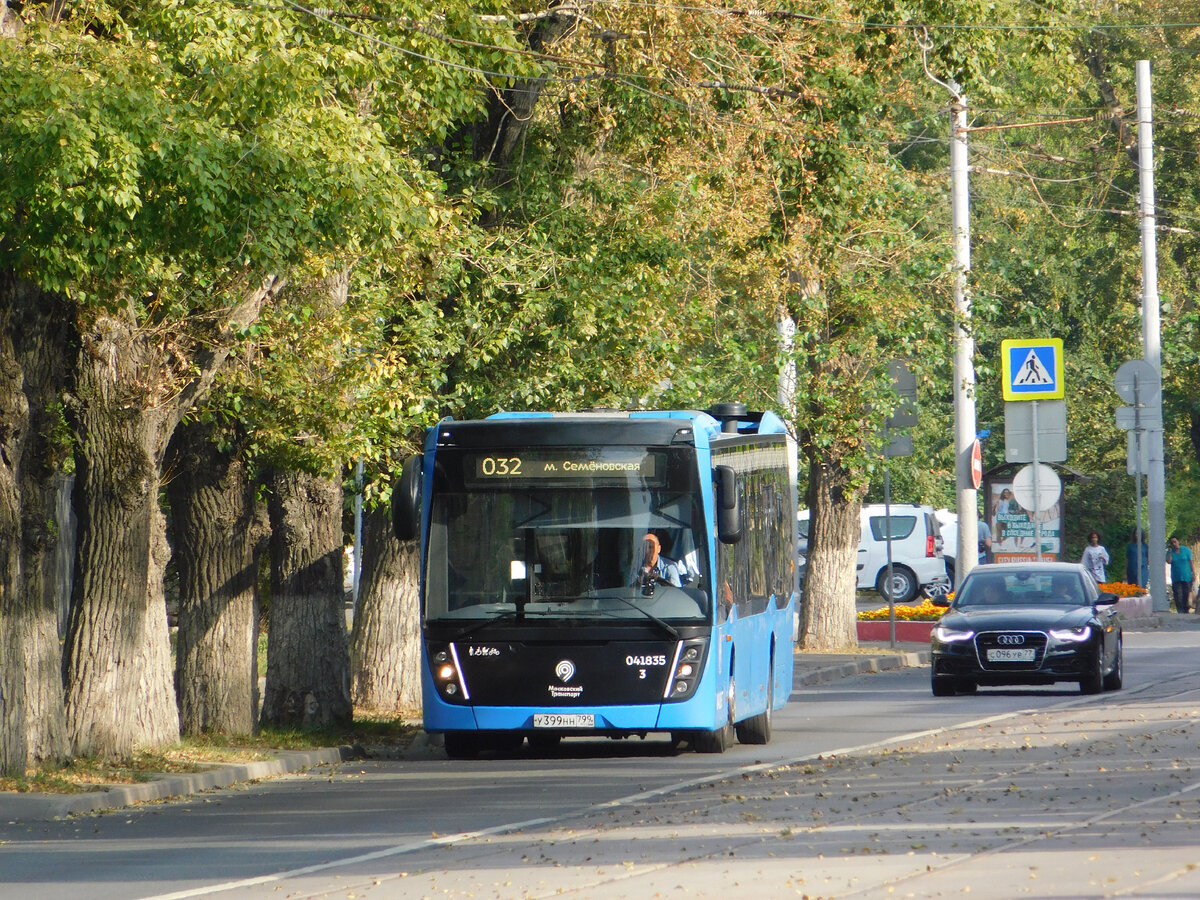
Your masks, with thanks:
[[[0,278],[0,772],[67,755],[55,610],[66,308]]]

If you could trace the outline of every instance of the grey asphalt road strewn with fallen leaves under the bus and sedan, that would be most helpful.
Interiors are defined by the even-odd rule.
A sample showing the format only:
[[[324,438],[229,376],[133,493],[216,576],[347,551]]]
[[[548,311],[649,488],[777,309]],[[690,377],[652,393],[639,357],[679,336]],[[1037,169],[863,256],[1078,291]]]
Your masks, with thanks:
[[[766,748],[365,761],[0,823],[0,896],[1198,896],[1200,631],[1126,689],[805,688]]]

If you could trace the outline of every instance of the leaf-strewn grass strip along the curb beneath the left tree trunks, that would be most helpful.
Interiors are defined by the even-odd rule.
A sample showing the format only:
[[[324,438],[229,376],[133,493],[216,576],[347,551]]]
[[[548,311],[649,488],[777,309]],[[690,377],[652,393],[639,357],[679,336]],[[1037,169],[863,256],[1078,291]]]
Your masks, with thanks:
[[[365,752],[402,749],[421,726],[407,720],[362,716],[344,728],[319,731],[263,728],[257,734],[203,734],[172,748],[140,751],[128,760],[79,757],[61,766],[42,766],[22,774],[0,775],[0,791],[18,793],[85,793],[106,785],[134,785],[162,775],[202,772],[223,763],[269,760],[281,750],[314,750],[352,745]]]

